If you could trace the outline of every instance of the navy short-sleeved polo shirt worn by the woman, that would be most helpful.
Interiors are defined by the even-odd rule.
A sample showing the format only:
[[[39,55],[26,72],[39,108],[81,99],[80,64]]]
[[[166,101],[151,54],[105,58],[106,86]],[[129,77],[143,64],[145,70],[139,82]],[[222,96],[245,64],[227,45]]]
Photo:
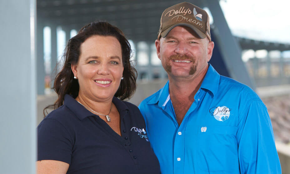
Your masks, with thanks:
[[[159,162],[148,141],[145,122],[135,105],[113,98],[120,113],[118,135],[98,115],[73,97],[49,113],[37,127],[37,160],[69,165],[69,174],[159,174]]]

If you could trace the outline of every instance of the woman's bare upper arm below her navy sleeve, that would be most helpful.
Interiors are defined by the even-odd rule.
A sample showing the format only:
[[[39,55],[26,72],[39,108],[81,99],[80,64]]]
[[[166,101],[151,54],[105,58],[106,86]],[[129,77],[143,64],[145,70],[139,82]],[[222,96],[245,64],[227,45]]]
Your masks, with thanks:
[[[36,162],[37,174],[65,174],[69,164],[55,160],[40,160]]]

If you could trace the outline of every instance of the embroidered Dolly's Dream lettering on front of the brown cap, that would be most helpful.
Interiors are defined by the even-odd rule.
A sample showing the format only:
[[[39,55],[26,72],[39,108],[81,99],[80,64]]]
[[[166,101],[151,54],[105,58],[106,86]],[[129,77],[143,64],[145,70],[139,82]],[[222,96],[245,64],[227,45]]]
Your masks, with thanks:
[[[199,27],[203,27],[202,23],[200,23],[199,21],[202,21],[202,14],[197,14],[196,12],[196,9],[193,8],[193,16],[198,20],[195,20],[195,19],[192,19],[192,18],[188,18],[188,17],[185,17],[184,15],[186,14],[191,14],[192,11],[188,8],[188,9],[184,9],[184,7],[180,7],[179,10],[170,10],[168,11],[164,17],[172,17],[171,20],[176,20],[176,22],[181,22],[183,20],[185,20],[186,22],[192,22],[196,25],[198,25]],[[168,16],[167,16],[168,15]]]

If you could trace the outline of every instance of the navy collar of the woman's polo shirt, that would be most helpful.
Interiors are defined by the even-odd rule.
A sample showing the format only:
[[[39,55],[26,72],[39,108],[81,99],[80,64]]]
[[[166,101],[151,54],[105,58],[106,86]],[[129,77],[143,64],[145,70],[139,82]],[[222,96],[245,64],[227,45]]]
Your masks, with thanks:
[[[129,110],[127,105],[117,97],[113,97],[113,103],[117,107],[118,112],[120,113],[120,118],[123,118]],[[89,116],[96,115],[83,107],[78,101],[76,101],[72,96],[68,94],[64,96],[64,105],[66,105],[80,120],[83,120],[84,118]]]

